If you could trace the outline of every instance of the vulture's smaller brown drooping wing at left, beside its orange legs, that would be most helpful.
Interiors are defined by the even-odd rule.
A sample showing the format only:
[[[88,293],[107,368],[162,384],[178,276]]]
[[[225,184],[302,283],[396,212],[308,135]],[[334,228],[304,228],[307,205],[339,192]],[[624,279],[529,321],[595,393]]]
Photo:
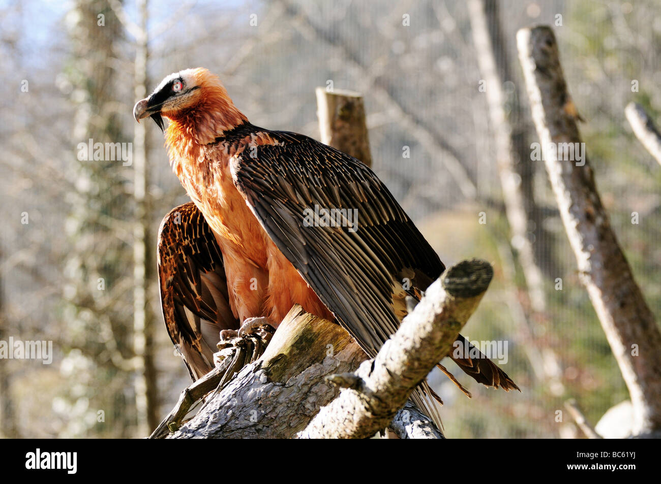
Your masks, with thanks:
[[[165,326],[197,380],[214,368],[221,329],[238,329],[239,321],[229,306],[220,249],[194,203],[165,216],[157,257]]]

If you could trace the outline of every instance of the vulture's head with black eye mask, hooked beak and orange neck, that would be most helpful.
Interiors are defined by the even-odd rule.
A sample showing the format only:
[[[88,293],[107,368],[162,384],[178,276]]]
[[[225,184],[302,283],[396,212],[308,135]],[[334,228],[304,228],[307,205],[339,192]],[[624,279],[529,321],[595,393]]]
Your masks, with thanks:
[[[151,117],[163,129],[163,116],[197,141],[220,135],[247,118],[234,106],[218,77],[203,67],[173,73],[133,108],[136,121]]]

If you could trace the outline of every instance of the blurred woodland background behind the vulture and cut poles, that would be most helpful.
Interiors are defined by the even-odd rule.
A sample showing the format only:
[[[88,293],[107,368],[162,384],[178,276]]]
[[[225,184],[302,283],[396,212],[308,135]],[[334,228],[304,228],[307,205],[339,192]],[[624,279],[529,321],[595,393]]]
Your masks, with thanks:
[[[661,314],[661,166],[624,116],[634,100],[661,120],[658,0],[498,6],[502,39],[495,48],[510,63],[510,120],[527,145],[537,141],[514,35],[522,26],[550,24],[586,120],[580,129],[603,203],[652,312]],[[50,365],[0,361],[3,436],[145,434],[136,406],[145,389],[135,353],[134,167],[77,158],[77,145],[90,138],[132,141],[136,45],[118,13],[139,24],[138,7],[132,0],[0,1],[0,339],[52,340],[55,349]],[[478,388],[457,374],[473,392],[467,399],[432,374],[446,402],[447,436],[580,436],[568,417],[557,421],[565,399],[576,398],[595,423],[628,398],[578,281],[543,163],[524,158],[517,170],[528,204],[527,237],[547,299],[544,314],[529,310],[464,2],[166,0],[149,3],[147,30],[150,89],[173,71],[207,67],[258,126],[318,139],[315,86],[332,81],[334,88],[362,92],[377,175],[446,265],[473,257],[494,265],[494,283],[465,335],[508,341],[502,366],[523,393]],[[443,150],[421,142],[423,131]],[[153,123],[147,135],[151,422],[171,409],[189,379],[163,327],[153,272],[159,221],[186,195]],[[449,176],[448,156],[477,188],[474,199]],[[634,211],[638,225],[631,223]],[[482,212],[486,224],[479,223]]]

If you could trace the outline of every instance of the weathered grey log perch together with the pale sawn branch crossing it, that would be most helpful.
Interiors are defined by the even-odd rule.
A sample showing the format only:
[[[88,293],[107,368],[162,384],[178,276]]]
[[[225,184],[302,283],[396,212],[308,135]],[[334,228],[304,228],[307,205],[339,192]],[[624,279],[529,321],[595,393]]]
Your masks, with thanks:
[[[402,438],[443,438],[407,398],[451,351],[492,274],[483,261],[448,269],[369,362],[338,324],[294,306],[262,357],[208,396],[171,438],[290,438],[301,431],[300,437],[358,438],[388,425]],[[354,388],[329,405],[338,386]]]

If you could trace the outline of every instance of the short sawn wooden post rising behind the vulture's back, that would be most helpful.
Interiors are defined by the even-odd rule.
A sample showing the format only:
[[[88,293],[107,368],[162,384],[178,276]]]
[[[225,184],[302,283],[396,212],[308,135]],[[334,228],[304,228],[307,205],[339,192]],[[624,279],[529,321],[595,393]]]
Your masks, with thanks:
[[[318,87],[317,117],[322,143],[371,167],[365,105],[360,93]]]

